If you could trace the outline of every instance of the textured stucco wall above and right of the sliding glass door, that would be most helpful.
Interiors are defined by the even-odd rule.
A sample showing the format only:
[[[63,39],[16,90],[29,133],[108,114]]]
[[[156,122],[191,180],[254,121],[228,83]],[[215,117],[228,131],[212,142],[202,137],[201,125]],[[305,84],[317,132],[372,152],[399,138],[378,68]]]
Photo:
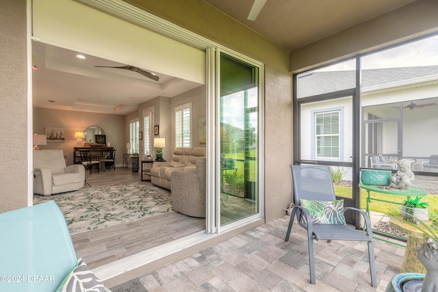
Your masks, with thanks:
[[[292,202],[292,75],[288,52],[198,0],[125,0],[210,40],[266,64],[265,68],[265,215],[285,215]],[[169,8],[172,9],[169,9]]]

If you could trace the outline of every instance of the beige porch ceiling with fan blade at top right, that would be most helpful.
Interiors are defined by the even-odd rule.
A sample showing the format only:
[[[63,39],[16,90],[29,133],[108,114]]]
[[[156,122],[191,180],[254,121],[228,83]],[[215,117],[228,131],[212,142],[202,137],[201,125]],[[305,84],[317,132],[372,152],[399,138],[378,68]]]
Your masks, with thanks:
[[[204,0],[287,51],[407,5],[415,0],[267,0],[255,21],[253,3],[263,0]]]

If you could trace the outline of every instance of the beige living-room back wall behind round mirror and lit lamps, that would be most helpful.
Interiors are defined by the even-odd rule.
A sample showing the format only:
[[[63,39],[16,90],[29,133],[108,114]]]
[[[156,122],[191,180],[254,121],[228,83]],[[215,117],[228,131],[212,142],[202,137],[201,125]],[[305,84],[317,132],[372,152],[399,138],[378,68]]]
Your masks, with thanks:
[[[77,145],[75,132],[83,132],[90,126],[99,126],[105,131],[107,142],[116,149],[116,166],[123,165],[123,153],[127,143],[124,116],[34,107],[33,122],[33,131],[37,134],[44,134],[46,127],[64,128],[64,142],[47,142],[47,145],[39,147],[63,150],[64,155],[67,155],[68,165],[73,164],[73,148]]]

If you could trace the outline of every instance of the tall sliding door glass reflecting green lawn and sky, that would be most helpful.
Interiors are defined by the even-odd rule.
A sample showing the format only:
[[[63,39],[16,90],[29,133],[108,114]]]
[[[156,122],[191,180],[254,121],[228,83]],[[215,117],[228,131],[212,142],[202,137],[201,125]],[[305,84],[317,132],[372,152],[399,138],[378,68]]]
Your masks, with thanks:
[[[220,57],[220,225],[259,213],[258,68]]]

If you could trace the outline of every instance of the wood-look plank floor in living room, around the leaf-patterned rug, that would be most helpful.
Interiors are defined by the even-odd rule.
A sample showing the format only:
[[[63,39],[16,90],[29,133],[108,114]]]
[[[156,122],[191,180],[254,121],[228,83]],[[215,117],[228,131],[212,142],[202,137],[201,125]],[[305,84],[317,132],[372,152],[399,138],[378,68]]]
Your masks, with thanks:
[[[86,175],[91,187],[140,181],[140,173],[123,168]],[[72,235],[72,240],[77,256],[92,269],[201,230],[205,230],[205,219],[172,211]]]

